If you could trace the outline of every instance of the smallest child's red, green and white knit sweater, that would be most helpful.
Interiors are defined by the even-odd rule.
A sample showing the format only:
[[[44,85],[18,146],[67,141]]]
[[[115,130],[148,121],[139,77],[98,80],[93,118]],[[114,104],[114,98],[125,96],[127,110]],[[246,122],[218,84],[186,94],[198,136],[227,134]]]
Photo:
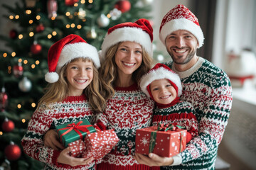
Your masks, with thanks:
[[[198,123],[196,120],[195,110],[191,103],[178,101],[174,106],[154,108],[152,125],[157,126],[159,123],[173,124],[183,126],[192,137],[198,135]]]

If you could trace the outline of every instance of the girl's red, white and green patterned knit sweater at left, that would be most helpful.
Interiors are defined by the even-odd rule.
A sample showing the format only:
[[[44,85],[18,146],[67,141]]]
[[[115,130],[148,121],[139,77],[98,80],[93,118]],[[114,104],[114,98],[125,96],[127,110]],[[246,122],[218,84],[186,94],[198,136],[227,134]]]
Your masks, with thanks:
[[[92,119],[92,111],[85,95],[68,96],[63,102],[50,103],[49,106],[42,104],[36,110],[28,123],[28,130],[21,140],[23,151],[29,157],[33,157],[46,164],[44,169],[90,169],[95,170],[95,162],[86,166],[69,166],[57,163],[60,151],[43,146],[43,135],[50,129],[63,123],[73,123],[76,121]]]

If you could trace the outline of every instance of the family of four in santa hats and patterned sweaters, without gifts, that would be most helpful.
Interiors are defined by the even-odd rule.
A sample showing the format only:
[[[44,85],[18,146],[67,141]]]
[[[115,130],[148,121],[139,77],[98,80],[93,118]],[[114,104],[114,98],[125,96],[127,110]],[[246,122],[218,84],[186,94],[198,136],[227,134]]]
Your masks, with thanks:
[[[155,66],[153,29],[144,18],[110,28],[100,52],[78,35],[55,42],[46,94],[21,141],[24,152],[44,169],[215,169],[232,105],[230,80],[196,55],[204,36],[186,6],[166,13],[159,37],[171,61]],[[119,137],[100,160],[71,157],[55,131],[85,118]],[[136,130],[159,123],[186,127],[186,149],[174,157],[136,153]]]

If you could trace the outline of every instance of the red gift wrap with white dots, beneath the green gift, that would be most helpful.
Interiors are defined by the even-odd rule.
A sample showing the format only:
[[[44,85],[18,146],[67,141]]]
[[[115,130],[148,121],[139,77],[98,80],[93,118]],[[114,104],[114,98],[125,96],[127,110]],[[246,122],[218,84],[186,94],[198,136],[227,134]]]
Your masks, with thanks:
[[[71,142],[68,146],[71,147],[70,154],[73,157],[100,159],[109,153],[118,141],[119,139],[114,130],[103,130],[90,133],[85,136],[84,141],[77,140]]]

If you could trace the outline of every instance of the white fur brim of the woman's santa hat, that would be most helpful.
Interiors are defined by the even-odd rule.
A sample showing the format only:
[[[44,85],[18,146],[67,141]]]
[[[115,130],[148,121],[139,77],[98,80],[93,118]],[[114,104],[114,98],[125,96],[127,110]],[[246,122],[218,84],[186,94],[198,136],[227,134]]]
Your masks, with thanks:
[[[137,42],[146,52],[153,57],[152,43],[149,34],[140,28],[124,27],[118,28],[112,33],[105,35],[105,39],[102,42],[102,58],[105,59],[107,50],[116,45],[118,42],[131,41]]]

